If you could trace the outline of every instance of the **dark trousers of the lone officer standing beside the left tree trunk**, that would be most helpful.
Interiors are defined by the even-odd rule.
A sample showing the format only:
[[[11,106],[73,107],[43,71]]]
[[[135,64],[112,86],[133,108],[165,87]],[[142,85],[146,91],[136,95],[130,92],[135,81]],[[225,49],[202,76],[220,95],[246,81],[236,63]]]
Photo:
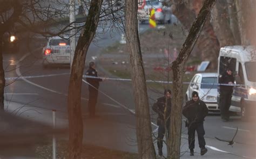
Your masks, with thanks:
[[[90,115],[95,115],[95,106],[98,99],[98,90],[89,88],[88,110]]]

